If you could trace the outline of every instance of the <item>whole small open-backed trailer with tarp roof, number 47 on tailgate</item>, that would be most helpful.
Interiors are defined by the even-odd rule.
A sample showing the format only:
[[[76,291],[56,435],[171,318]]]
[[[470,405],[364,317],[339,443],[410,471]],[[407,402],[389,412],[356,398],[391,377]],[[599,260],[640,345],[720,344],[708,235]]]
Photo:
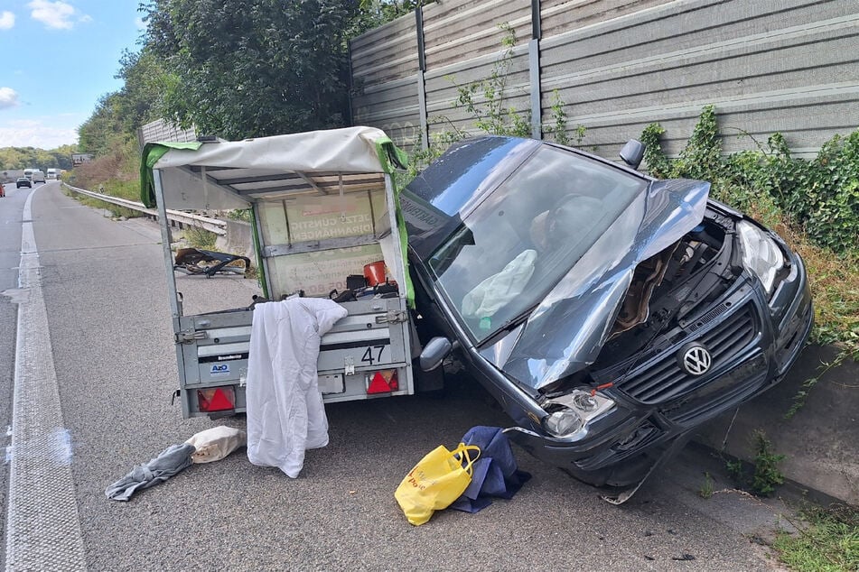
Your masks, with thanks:
[[[141,198],[157,207],[160,220],[183,417],[245,411],[254,309],[302,296],[335,299],[349,312],[322,337],[317,370],[324,402],[415,392],[420,348],[392,176],[404,165],[405,153],[370,127],[145,145]],[[168,209],[249,209],[257,260],[173,252]],[[202,266],[207,258],[215,260]],[[184,314],[177,272],[218,264],[232,272],[252,265],[262,295],[240,307]],[[219,271],[195,278],[235,280],[219,278]]]

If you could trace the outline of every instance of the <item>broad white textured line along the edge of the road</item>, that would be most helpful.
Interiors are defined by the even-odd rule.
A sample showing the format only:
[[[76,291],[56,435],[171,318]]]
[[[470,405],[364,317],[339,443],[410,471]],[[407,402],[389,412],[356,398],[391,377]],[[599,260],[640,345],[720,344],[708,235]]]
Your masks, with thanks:
[[[6,512],[6,571],[86,570],[71,475],[69,431],[62,422],[48,314],[42,295],[31,202],[23,208],[18,269],[12,445]]]

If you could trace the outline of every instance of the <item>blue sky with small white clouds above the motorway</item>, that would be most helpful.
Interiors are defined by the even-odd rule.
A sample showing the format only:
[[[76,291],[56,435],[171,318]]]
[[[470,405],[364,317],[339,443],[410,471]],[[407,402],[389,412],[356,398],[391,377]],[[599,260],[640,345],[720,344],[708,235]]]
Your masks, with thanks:
[[[0,148],[77,143],[124,50],[138,51],[138,0],[0,0]]]

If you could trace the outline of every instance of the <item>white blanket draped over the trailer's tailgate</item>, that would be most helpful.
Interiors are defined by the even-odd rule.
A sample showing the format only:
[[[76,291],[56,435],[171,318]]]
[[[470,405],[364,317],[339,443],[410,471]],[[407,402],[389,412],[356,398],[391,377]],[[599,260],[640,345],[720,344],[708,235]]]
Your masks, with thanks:
[[[257,304],[247,360],[247,458],[292,478],[304,451],[328,445],[319,392],[319,344],[347,310],[333,300],[294,298]]]

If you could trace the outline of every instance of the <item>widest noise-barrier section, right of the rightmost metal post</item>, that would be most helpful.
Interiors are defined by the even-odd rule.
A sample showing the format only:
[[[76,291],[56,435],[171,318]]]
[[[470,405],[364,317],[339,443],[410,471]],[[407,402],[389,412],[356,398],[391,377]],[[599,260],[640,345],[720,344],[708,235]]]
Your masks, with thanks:
[[[709,103],[756,138],[765,141],[780,131],[797,149],[853,131],[859,123],[852,89],[859,85],[855,8],[840,2],[770,2],[765,10],[727,4],[736,10],[703,0],[671,3],[547,39],[541,57],[544,114],[557,88],[571,128],[588,127],[584,143],[613,149],[640,134],[642,118],[662,122],[658,116],[666,110],[696,110],[681,122],[680,134],[668,130],[671,154]],[[681,29],[685,33],[670,32]],[[817,109],[820,104],[826,106]],[[824,108],[845,113],[825,118]],[[809,109],[815,112],[803,114]],[[817,127],[798,115],[816,117]],[[621,129],[630,116],[638,120]],[[733,138],[725,150],[753,144]]]

